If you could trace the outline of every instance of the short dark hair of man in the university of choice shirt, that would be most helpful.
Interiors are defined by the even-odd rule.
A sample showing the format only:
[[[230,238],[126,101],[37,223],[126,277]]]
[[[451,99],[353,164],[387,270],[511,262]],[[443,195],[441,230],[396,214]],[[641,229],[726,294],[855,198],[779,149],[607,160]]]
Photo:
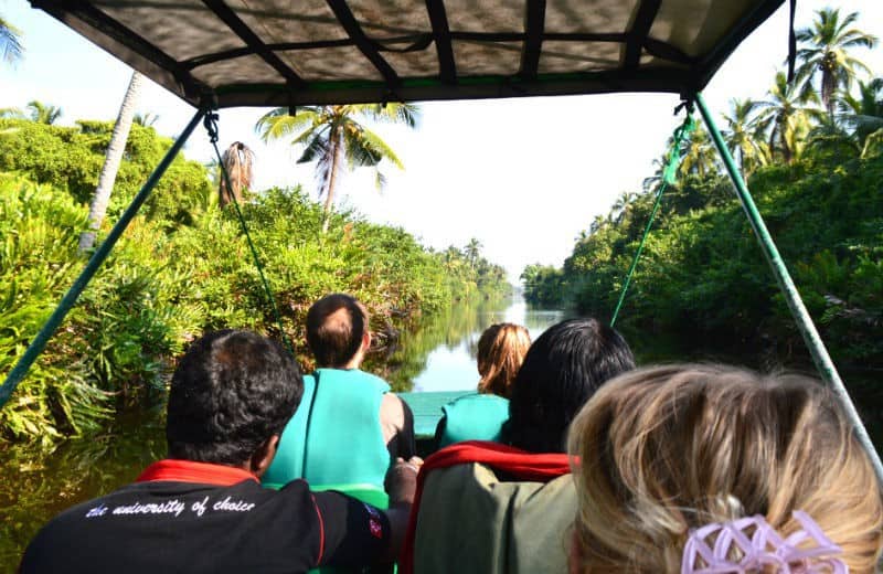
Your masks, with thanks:
[[[300,368],[276,341],[249,331],[208,333],[172,376],[169,457],[241,465],[281,434],[302,394]]]

